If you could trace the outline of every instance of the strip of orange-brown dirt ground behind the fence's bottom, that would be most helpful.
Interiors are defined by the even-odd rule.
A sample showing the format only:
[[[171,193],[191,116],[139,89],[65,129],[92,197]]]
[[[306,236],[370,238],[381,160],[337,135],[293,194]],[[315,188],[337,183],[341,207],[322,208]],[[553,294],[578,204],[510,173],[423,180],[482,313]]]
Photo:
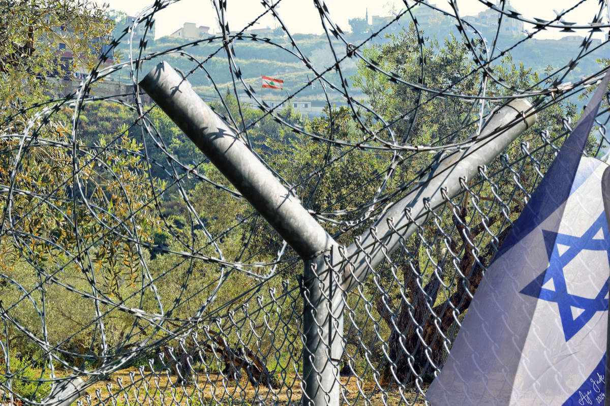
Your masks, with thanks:
[[[175,375],[168,376],[165,372],[140,374],[137,368],[129,368],[112,374],[109,380],[90,386],[87,397],[93,404],[101,402],[117,406],[300,405],[301,388],[295,374],[284,374],[278,378],[285,382],[278,390],[253,386],[246,378],[236,382],[223,379],[220,374],[205,372],[200,372],[194,381],[186,385],[175,385]],[[402,393],[399,390],[381,391],[374,380],[359,381],[357,377],[342,377],[341,383],[343,401],[347,404],[425,405],[415,387],[403,390]],[[426,389],[425,387],[424,391]],[[110,393],[114,395],[110,396]],[[87,405],[85,396],[81,400]]]

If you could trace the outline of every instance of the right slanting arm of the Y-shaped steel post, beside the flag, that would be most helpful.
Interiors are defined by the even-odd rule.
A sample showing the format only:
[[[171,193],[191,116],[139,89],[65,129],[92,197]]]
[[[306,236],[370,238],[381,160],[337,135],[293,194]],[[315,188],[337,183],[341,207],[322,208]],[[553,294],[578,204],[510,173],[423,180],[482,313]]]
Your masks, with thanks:
[[[440,160],[432,173],[376,221],[371,227],[374,231],[363,233],[359,244],[351,244],[347,250],[349,263],[343,267],[343,291],[356,287],[384,260],[385,255],[398,248],[402,239],[409,238],[417,227],[426,223],[431,216],[429,208],[445,203],[443,194],[449,198],[458,194],[462,190],[461,179],[472,179],[479,166],[487,165],[519,134],[531,127],[536,122],[536,115],[531,110],[531,104],[525,99],[514,99],[493,112],[481,134],[469,137],[473,144]]]

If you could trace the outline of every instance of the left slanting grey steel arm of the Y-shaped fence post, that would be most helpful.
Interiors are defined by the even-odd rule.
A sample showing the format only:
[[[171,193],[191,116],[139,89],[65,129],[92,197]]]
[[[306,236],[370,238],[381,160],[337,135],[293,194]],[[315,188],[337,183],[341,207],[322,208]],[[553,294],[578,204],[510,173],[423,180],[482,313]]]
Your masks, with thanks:
[[[140,87],[301,257],[315,257],[336,244],[235,130],[167,62],[152,69]]]

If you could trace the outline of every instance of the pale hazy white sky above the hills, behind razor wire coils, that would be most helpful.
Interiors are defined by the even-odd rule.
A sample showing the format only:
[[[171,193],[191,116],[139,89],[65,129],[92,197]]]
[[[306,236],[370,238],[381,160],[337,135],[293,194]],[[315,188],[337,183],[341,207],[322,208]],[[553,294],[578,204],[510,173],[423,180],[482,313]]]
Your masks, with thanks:
[[[151,5],[154,0],[105,0],[111,9],[121,10],[129,15],[135,15],[144,7]],[[412,4],[411,0],[408,0]],[[431,1],[443,9],[450,10],[447,1]],[[561,12],[569,9],[578,0],[512,0],[511,6],[528,18],[534,16],[551,20],[555,17],[553,9]],[[397,0],[326,0],[326,5],[331,13],[333,21],[339,24],[343,30],[350,30],[348,20],[354,17],[364,18],[368,9],[369,18],[373,15],[389,15],[391,10],[400,10],[404,7],[403,1]],[[484,10],[486,6],[480,0],[458,0],[461,15],[476,15]],[[260,0],[228,0],[227,13],[229,28],[231,30],[242,29],[256,16],[264,12]],[[577,10],[565,16],[565,21],[576,23],[589,23],[594,13],[598,10],[598,0],[586,0]],[[290,32],[321,34],[322,28],[320,16],[310,0],[280,0],[278,13],[282,21],[289,27]],[[604,13],[604,20],[608,20],[608,14]],[[156,37],[168,35],[182,26],[182,23],[196,23],[212,27],[211,32],[217,32],[218,24],[213,12],[210,0],[181,0],[171,4],[167,9],[157,14]],[[265,16],[260,24],[254,28],[269,26],[274,28],[277,22],[272,17]],[[550,31],[536,38],[559,38],[570,33]],[[584,35],[585,31],[578,34]]]

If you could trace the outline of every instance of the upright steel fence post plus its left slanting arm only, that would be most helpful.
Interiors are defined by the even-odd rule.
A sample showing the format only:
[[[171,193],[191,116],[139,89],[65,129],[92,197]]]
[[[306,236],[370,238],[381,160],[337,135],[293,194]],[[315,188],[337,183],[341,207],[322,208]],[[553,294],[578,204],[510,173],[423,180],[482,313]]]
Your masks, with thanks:
[[[303,258],[303,404],[339,405],[343,301],[337,243],[167,62],[140,86]]]

